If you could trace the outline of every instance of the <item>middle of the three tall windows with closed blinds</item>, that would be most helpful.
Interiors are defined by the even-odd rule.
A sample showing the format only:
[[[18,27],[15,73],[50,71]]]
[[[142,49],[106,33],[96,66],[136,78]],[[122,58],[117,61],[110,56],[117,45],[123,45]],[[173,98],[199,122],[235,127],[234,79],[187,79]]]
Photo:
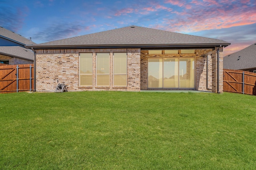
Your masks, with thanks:
[[[109,83],[109,53],[97,53],[96,59],[96,84],[97,86],[110,86]]]

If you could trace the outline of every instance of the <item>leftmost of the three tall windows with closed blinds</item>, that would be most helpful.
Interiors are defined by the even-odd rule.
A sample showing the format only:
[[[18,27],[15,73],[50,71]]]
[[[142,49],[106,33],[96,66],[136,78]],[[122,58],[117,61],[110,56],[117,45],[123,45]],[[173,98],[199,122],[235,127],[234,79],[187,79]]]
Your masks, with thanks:
[[[80,53],[80,86],[92,86],[92,53]]]

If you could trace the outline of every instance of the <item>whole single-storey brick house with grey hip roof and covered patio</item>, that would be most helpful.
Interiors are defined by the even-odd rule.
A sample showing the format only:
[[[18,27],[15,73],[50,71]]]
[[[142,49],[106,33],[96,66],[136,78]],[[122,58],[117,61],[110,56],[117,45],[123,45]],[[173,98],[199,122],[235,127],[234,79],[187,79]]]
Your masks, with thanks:
[[[223,48],[230,43],[129,26],[48,43],[36,51],[36,91],[57,82],[81,90],[223,92]]]

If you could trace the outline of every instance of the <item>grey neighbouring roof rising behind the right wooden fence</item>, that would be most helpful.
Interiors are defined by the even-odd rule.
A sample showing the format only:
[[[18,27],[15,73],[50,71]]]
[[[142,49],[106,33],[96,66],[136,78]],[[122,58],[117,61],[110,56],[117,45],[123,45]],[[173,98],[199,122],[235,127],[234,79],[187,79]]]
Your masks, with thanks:
[[[243,70],[256,67],[256,43],[223,58],[223,68]]]

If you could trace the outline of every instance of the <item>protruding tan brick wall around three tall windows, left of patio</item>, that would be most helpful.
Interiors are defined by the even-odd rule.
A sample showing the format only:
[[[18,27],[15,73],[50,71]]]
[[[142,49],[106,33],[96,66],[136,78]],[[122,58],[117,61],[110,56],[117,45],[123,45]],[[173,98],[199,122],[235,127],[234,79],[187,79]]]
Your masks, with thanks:
[[[96,87],[96,53],[110,53],[110,86]],[[113,86],[113,53],[127,53],[127,87]],[[79,53],[93,54],[93,84],[79,86]],[[118,90],[140,91],[140,49],[60,49],[36,50],[36,91],[53,92],[59,83],[70,91]]]

